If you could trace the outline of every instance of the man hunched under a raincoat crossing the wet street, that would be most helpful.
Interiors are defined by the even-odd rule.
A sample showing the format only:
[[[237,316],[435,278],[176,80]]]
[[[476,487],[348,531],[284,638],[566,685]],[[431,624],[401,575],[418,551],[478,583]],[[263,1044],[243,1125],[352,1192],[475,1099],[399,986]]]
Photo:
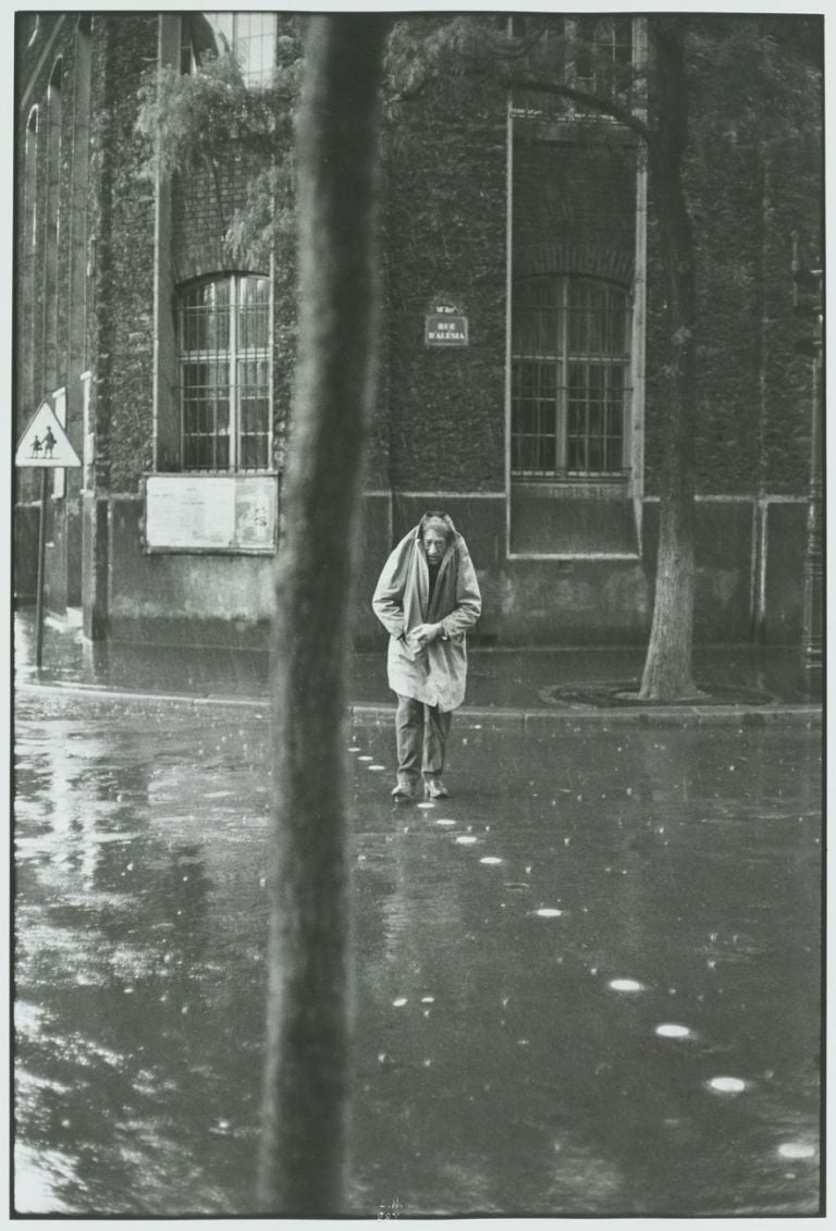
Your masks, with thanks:
[[[452,713],[464,700],[465,634],[481,613],[467,543],[447,513],[425,513],[387,560],[372,598],[389,633],[389,687],[398,694],[395,799],[444,799]]]

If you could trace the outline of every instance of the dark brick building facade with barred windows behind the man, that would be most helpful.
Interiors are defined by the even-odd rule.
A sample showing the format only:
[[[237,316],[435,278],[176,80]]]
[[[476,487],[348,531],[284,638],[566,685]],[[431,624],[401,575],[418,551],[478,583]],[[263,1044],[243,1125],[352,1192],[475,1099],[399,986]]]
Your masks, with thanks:
[[[561,17],[641,63],[641,18]],[[587,30],[586,26],[590,26]],[[15,427],[47,401],[82,460],[53,473],[46,604],[89,638],[260,645],[292,417],[293,259],[243,259],[246,159],[149,175],[149,65],[233,46],[252,90],[276,15],[44,12],[16,25]],[[589,80],[587,80],[589,78]],[[820,101],[758,142],[696,101],[702,641],[800,639],[809,364],[790,240],[819,225]],[[358,644],[392,544],[427,508],[465,534],[496,644],[627,644],[650,625],[665,336],[653,185],[635,135],[484,89],[398,105],[382,135],[378,403]],[[15,586],[38,492],[16,473]]]

